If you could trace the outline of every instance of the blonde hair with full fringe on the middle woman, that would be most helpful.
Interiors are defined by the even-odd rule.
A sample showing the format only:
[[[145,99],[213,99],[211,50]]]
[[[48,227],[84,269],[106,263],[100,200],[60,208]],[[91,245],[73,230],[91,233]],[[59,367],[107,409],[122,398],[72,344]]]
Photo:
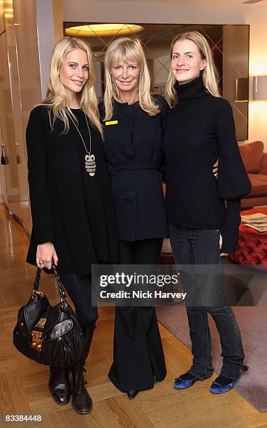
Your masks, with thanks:
[[[157,115],[160,109],[154,103],[150,94],[150,72],[147,68],[145,54],[138,38],[121,37],[110,43],[106,50],[104,65],[106,90],[103,97],[106,116],[104,120],[109,120],[113,116],[113,101],[120,101],[120,94],[117,86],[113,82],[111,69],[114,64],[120,62],[137,62],[140,67],[138,80],[138,101],[150,116]]]

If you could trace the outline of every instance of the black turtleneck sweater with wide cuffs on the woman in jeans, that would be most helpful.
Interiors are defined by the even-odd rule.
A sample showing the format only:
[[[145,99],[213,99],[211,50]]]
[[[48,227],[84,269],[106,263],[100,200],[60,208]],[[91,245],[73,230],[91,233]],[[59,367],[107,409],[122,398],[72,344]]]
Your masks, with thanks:
[[[220,229],[222,252],[238,243],[240,197],[251,190],[240,157],[231,106],[205,90],[202,77],[178,85],[168,113],[163,151],[168,221],[197,229]],[[212,166],[219,157],[218,179]]]

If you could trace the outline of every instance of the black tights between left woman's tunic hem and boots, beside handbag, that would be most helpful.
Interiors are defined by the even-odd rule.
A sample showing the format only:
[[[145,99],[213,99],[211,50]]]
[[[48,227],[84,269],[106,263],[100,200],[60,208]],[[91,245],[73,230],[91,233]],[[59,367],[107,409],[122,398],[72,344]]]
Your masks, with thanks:
[[[96,322],[99,314],[97,306],[92,306],[91,276],[78,278],[75,273],[68,273],[68,275],[62,275],[62,282],[73,301],[81,326],[87,327]]]

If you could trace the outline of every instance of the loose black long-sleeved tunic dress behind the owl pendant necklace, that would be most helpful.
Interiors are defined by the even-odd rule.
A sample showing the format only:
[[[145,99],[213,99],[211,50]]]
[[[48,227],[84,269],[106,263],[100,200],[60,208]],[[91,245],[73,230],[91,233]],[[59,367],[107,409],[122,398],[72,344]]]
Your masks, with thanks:
[[[89,150],[85,115],[72,110]],[[36,264],[38,244],[52,241],[59,272],[84,276],[98,262],[117,262],[118,245],[110,179],[99,131],[90,126],[96,173],[85,171],[85,148],[69,120],[51,131],[48,108],[31,111],[27,126],[29,191],[33,228],[27,262]]]

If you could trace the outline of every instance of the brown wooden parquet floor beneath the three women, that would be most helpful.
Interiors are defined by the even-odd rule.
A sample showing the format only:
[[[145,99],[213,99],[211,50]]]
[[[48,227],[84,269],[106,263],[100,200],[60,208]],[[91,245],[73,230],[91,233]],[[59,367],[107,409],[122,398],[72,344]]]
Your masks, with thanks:
[[[15,350],[12,332],[17,310],[31,292],[34,267],[25,262],[29,240],[20,224],[0,204],[0,413],[41,414],[43,425],[23,427],[267,427],[267,413],[259,413],[236,391],[210,394],[211,379],[194,387],[173,390],[173,379],[189,368],[191,353],[164,327],[160,327],[168,375],[153,390],[130,401],[108,380],[112,362],[113,309],[100,308],[100,316],[87,361],[87,387],[94,401],[89,415],[78,415],[71,404],[58,406],[48,391],[48,368],[31,362]],[[43,275],[43,286],[55,301],[55,283]],[[214,376],[215,377],[215,376]],[[15,426],[15,425],[14,425]],[[16,425],[17,426],[17,425]]]

